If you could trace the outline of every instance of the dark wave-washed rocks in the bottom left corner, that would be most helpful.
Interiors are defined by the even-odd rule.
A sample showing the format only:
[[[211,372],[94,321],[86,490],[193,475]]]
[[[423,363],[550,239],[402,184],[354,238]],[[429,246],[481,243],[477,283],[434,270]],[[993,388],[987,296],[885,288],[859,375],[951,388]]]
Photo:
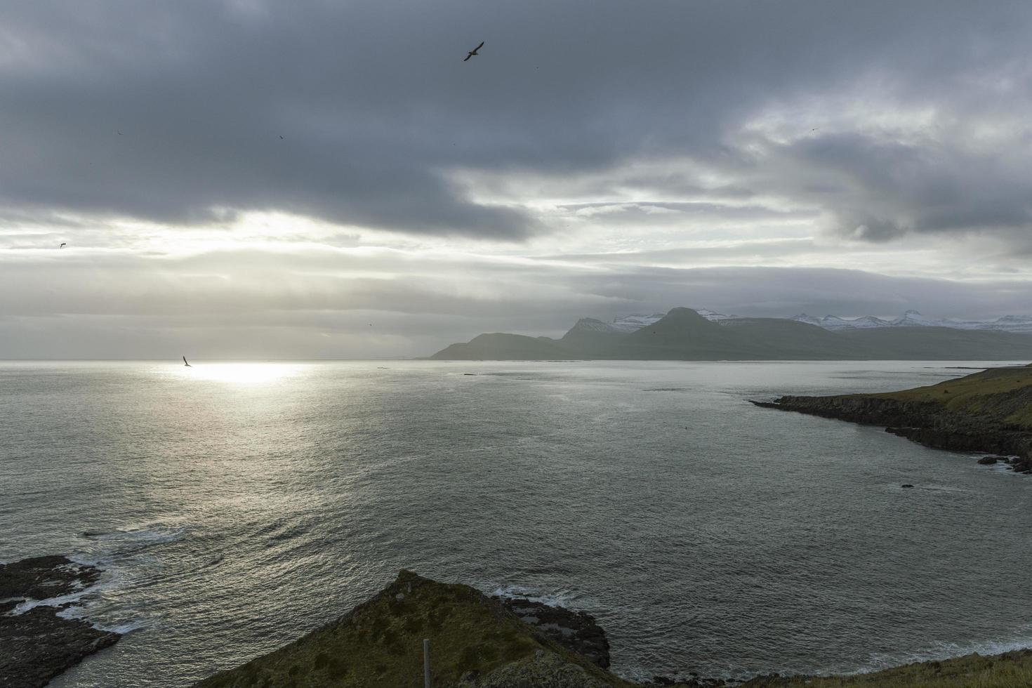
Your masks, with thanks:
[[[58,616],[58,612],[72,602],[40,604],[18,613],[23,602],[72,595],[99,579],[96,566],[63,556],[0,564],[0,686],[45,686],[85,657],[119,641],[119,633],[97,630],[79,619]]]

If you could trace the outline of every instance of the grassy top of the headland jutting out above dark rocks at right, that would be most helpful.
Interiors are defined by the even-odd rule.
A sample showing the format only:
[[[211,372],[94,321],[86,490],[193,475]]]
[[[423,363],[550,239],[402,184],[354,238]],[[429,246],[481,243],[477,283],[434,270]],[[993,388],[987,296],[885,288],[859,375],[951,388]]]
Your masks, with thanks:
[[[956,414],[989,416],[1032,429],[1032,365],[990,368],[938,385],[867,396],[930,401]]]

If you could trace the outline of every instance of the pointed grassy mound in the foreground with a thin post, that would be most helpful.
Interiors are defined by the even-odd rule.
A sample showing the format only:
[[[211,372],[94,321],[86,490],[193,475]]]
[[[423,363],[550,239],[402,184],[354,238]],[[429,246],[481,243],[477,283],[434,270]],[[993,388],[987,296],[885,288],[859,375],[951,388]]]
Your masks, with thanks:
[[[607,686],[631,686],[540,635],[474,588],[411,571],[401,571],[383,592],[338,621],[197,685],[421,688],[424,637],[430,640],[434,686],[452,685],[469,671],[485,675],[533,659],[539,651],[579,666]]]

